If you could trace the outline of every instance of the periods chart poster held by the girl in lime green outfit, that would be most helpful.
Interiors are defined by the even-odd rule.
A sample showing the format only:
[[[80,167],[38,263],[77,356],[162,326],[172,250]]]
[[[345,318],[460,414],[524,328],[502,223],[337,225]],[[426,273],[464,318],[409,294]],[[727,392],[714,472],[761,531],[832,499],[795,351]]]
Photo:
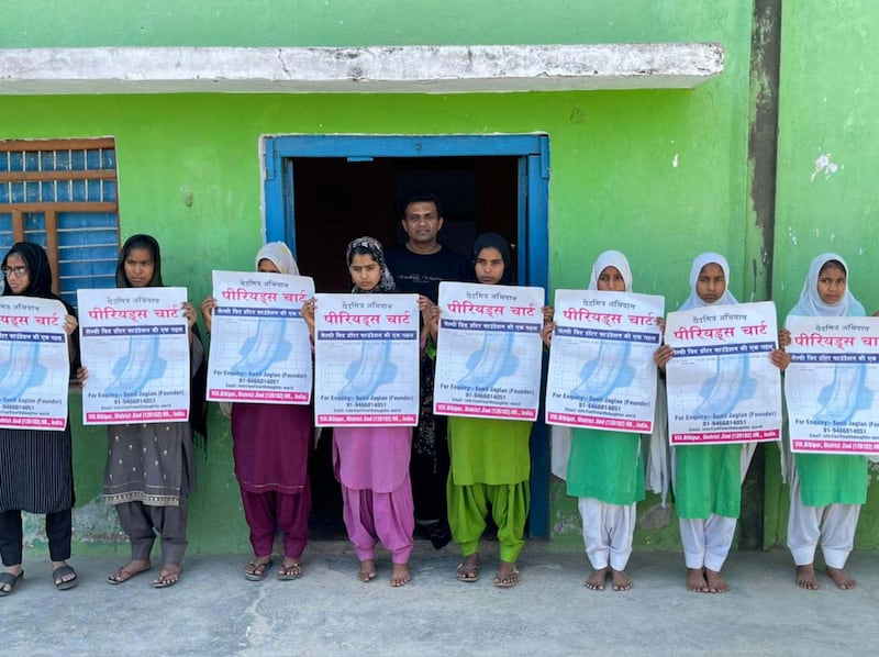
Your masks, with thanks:
[[[434,413],[537,419],[543,299],[542,288],[439,283]]]

